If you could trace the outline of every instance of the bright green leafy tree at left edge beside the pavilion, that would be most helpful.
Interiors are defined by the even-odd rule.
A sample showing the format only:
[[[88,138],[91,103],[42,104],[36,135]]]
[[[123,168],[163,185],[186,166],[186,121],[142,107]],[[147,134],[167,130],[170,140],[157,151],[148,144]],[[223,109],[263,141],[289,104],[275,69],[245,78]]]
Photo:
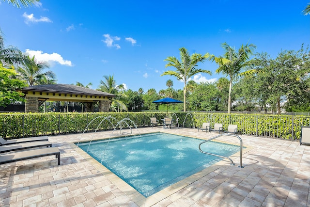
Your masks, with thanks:
[[[6,107],[13,101],[24,102],[23,94],[16,91],[16,88],[24,86],[24,81],[16,79],[14,68],[5,68],[0,64],[0,106]]]

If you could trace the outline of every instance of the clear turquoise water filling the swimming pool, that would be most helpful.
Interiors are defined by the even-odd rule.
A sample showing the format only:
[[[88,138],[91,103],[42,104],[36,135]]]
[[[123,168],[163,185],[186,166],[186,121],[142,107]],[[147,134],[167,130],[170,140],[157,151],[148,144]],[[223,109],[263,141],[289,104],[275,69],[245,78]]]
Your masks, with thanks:
[[[166,133],[151,133],[121,139],[93,141],[88,154],[145,197],[190,176],[220,160],[203,154],[202,140]],[[79,143],[85,152],[89,143]],[[208,142],[202,150],[223,156],[240,151],[239,146]]]

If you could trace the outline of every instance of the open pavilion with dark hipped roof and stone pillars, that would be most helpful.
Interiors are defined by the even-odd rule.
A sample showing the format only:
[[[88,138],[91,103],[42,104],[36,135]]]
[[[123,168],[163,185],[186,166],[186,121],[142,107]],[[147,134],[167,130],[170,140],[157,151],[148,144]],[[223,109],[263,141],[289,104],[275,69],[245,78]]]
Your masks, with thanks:
[[[45,101],[82,102],[89,112],[93,112],[94,103],[98,102],[99,112],[108,112],[109,98],[115,97],[113,94],[67,84],[32,85],[16,91],[24,94],[25,112],[38,112],[39,106]]]

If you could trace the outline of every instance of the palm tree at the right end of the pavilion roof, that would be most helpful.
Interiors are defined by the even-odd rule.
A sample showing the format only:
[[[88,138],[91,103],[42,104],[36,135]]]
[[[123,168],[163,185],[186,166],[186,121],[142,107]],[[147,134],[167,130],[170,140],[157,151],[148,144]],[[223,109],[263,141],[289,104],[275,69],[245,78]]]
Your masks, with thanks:
[[[124,102],[121,100],[122,98],[126,98],[127,95],[120,93],[120,89],[122,88],[123,84],[121,85],[116,85],[116,80],[114,79],[114,75],[113,76],[103,76],[103,78],[105,78],[105,81],[100,80],[100,85],[98,90],[99,91],[103,91],[109,94],[113,94],[116,97],[114,98],[110,98],[109,99],[109,108],[111,110],[114,109],[114,111],[116,111],[116,108],[112,106],[117,105],[118,109],[120,110],[124,110],[127,111],[127,106],[124,104]]]

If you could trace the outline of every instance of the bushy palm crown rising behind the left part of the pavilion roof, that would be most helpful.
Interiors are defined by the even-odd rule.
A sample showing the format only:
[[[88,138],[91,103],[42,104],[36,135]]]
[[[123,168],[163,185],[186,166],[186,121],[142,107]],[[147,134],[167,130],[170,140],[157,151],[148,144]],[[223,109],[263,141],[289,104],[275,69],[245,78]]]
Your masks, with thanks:
[[[48,84],[50,79],[55,77],[52,71],[43,72],[49,65],[45,61],[37,61],[35,57],[28,55],[25,58],[25,63],[17,67],[18,78],[26,80],[29,85]]]

